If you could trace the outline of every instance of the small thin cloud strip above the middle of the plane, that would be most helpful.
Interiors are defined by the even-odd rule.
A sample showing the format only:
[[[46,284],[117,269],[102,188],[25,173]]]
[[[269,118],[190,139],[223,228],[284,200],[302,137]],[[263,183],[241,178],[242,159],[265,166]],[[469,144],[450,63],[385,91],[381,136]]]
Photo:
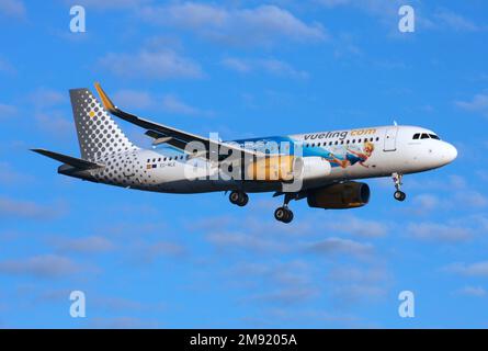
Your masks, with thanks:
[[[297,79],[308,78],[308,73],[293,68],[290,64],[274,59],[242,59],[228,57],[223,59],[222,64],[238,72],[263,71],[276,77],[290,77]]]

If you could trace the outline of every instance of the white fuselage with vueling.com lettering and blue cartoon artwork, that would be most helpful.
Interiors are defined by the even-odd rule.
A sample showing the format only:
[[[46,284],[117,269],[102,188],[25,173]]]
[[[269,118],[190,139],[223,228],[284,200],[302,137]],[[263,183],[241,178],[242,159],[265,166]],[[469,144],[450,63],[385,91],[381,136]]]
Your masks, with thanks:
[[[320,157],[328,160],[330,172],[313,181],[305,181],[304,190],[343,180],[422,172],[447,165],[457,156],[454,146],[440,140],[432,131],[416,126],[367,127],[237,143],[243,141],[246,147],[256,150],[273,141],[280,145],[274,152],[281,155],[290,152],[290,148],[293,149],[291,154],[297,155],[297,145],[302,145],[304,158]],[[286,143],[292,146],[287,147]],[[87,171],[82,178],[169,193],[282,191],[280,182],[219,179],[214,162],[204,158],[189,158],[184,152],[168,147],[105,156],[100,162],[105,165],[104,169]],[[189,179],[189,174],[193,177]],[[198,179],[194,179],[195,176]]]

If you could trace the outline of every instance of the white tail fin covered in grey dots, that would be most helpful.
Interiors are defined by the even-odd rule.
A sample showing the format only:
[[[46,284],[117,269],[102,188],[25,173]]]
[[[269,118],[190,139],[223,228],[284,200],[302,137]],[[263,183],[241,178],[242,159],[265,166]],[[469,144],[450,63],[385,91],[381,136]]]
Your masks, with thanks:
[[[95,161],[137,149],[90,90],[72,89],[69,95],[82,159]]]

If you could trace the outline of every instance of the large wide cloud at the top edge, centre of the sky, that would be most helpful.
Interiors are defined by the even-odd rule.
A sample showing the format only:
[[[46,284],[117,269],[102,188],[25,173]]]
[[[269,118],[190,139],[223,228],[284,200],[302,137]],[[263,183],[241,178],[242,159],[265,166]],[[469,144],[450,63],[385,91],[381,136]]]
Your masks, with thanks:
[[[144,7],[139,15],[151,23],[188,30],[228,45],[270,45],[277,41],[322,42],[320,24],[307,24],[276,5],[226,9],[216,4],[184,2]],[[282,43],[282,42],[281,42]]]

